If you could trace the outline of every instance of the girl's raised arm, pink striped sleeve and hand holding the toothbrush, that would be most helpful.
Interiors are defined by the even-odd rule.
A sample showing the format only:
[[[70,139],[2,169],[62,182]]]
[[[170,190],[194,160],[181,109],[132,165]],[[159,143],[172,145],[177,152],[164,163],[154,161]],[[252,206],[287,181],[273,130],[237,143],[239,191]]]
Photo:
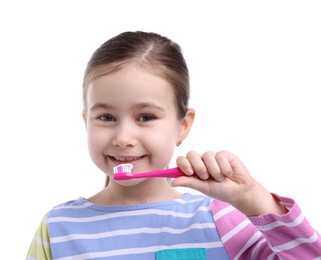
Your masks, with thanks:
[[[219,215],[213,213],[217,218],[231,210],[217,218],[216,224],[226,248],[235,251],[233,257],[266,259],[271,255],[273,259],[273,250],[285,259],[321,256],[321,238],[295,202],[267,191],[232,153],[206,152],[201,156],[189,152],[186,158],[177,159],[177,165],[186,175],[196,173],[199,178],[179,177],[173,186],[189,187],[215,198],[214,211],[220,205],[230,207]],[[305,258],[297,258],[298,252]],[[307,252],[310,255],[305,255]]]

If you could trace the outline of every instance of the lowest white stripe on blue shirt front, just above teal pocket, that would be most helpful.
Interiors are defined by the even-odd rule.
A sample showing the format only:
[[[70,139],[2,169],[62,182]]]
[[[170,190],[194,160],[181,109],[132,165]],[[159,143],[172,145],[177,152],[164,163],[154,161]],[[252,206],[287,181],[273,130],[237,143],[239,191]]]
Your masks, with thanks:
[[[129,249],[118,249],[118,250],[110,250],[106,252],[95,252],[95,253],[87,253],[80,254],[68,257],[60,257],[57,260],[84,260],[90,258],[99,258],[99,257],[110,257],[110,256],[121,256],[121,255],[134,255],[134,254],[142,254],[142,253],[150,253],[156,252],[163,249],[175,249],[175,248],[218,248],[222,247],[221,242],[211,242],[211,243],[189,243],[189,244],[177,244],[173,246],[168,245],[160,245],[160,246],[152,246],[152,247],[138,247],[138,248],[129,248]]]

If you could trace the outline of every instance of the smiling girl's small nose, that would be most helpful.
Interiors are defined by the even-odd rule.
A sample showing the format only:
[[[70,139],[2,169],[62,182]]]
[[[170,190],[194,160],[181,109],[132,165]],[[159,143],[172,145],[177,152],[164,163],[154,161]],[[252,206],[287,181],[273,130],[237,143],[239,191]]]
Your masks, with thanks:
[[[116,128],[112,143],[120,148],[135,146],[137,144],[135,126],[128,122],[120,123]]]

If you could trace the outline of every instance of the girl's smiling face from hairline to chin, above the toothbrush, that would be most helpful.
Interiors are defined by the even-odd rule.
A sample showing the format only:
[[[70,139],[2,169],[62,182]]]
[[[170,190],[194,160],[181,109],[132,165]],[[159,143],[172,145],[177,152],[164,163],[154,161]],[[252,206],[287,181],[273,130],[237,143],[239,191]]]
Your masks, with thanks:
[[[128,66],[89,82],[86,101],[89,152],[102,171],[111,175],[121,163],[133,172],[167,167],[184,126],[166,80]]]

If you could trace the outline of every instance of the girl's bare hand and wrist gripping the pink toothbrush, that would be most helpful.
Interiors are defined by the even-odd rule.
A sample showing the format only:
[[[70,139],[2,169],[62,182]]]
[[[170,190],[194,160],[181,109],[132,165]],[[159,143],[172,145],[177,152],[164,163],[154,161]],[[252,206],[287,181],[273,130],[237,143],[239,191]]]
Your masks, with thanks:
[[[178,157],[176,163],[186,175],[195,173],[199,178],[176,178],[172,182],[173,187],[183,186],[198,190],[210,197],[228,202],[247,216],[286,212],[231,152],[205,152],[199,155],[191,151],[186,157]]]

